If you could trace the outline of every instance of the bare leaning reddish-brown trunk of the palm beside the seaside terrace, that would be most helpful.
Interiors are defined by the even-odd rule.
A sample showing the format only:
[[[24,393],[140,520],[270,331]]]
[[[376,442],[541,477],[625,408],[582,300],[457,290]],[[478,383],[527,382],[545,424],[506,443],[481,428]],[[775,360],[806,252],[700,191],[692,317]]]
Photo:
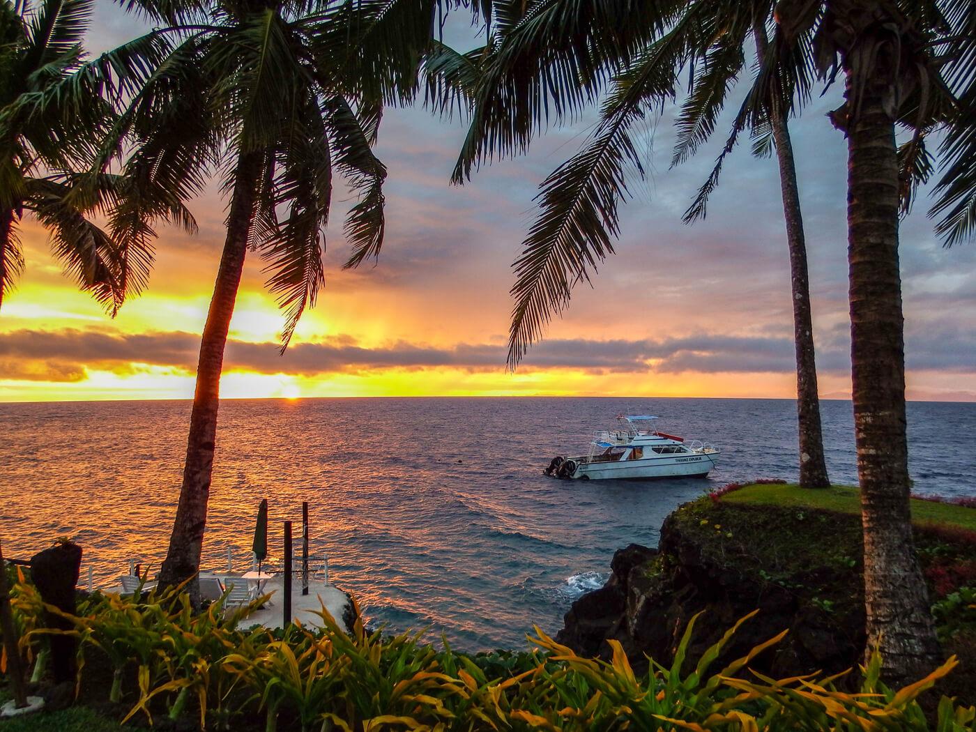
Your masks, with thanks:
[[[237,159],[236,183],[227,217],[224,254],[200,343],[180,504],[177,507],[166,560],[159,574],[159,584],[163,587],[177,585],[192,578],[188,590],[194,603],[199,597],[196,574],[200,569],[203,531],[207,524],[207,501],[214,468],[224,346],[237,300],[244,257],[247,254],[248,232],[254,218],[255,182],[260,175],[260,164],[261,157],[258,153],[241,153]]]

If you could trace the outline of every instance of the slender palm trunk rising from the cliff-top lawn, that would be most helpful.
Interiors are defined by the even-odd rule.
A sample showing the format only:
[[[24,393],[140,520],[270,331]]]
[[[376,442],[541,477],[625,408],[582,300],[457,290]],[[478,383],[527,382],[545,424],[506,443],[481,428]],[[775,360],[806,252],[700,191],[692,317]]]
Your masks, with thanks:
[[[755,53],[760,63],[769,45],[766,27],[756,18],[752,23]],[[793,346],[796,352],[796,419],[799,433],[799,485],[801,488],[827,488],[824,437],[820,424],[820,395],[817,389],[817,359],[813,345],[813,319],[810,308],[810,280],[806,266],[806,237],[799,206],[799,186],[793,162],[790,127],[779,109],[773,110],[770,125],[776,157],[780,165],[783,215],[787,224],[790,250],[790,284],[793,293]]]

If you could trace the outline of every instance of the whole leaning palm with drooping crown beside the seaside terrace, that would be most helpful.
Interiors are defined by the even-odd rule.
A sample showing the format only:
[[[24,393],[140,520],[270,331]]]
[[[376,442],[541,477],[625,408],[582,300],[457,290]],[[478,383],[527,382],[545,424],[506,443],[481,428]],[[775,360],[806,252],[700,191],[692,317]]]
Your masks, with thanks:
[[[334,173],[359,194],[346,220],[346,266],[384,238],[386,167],[373,154],[384,103],[409,100],[434,3],[140,0],[167,23],[169,51],[122,114],[141,140],[129,167],[181,197],[218,171],[226,237],[203,330],[183,486],[163,585],[199,569],[214,463],[224,346],[248,249],[286,310],[282,350],[323,283]]]

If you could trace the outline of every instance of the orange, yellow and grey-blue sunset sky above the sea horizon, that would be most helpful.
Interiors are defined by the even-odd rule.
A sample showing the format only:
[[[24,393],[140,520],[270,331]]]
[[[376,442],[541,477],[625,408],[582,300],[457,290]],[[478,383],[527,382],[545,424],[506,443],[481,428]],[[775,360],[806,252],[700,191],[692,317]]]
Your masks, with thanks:
[[[93,52],[139,32],[98,0]],[[733,93],[728,107],[739,97]],[[826,112],[836,92],[793,121],[823,398],[849,398],[846,146]],[[712,168],[716,139],[671,169],[673,109],[649,119],[648,175],[622,208],[617,254],[580,286],[522,365],[505,368],[510,265],[547,174],[586,140],[592,115],[549,130],[530,154],[448,183],[465,135],[423,108],[386,112],[386,240],[377,264],[343,270],[338,191],[326,231],[326,284],[282,355],[284,316],[252,255],[230,327],[224,397],[376,395],[795,395],[793,316],[775,161],[744,145],[726,162],[708,218],[681,214]],[[148,289],[112,319],[77,291],[29,219],[26,267],[0,310],[0,401],[191,398],[224,243],[225,200],[189,203],[196,235],[159,229]],[[921,195],[902,224],[908,397],[976,401],[976,247],[944,249]]]

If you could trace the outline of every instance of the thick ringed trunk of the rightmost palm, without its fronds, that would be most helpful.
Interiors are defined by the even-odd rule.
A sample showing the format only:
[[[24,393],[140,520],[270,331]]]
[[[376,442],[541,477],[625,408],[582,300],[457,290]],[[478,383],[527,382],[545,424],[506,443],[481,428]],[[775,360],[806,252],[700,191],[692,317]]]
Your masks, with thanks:
[[[850,108],[854,94],[845,71]],[[867,78],[848,125],[847,223],[867,652],[877,645],[891,683],[931,671],[940,652],[912,540],[898,160],[894,123],[883,105],[889,84],[883,71]]]

